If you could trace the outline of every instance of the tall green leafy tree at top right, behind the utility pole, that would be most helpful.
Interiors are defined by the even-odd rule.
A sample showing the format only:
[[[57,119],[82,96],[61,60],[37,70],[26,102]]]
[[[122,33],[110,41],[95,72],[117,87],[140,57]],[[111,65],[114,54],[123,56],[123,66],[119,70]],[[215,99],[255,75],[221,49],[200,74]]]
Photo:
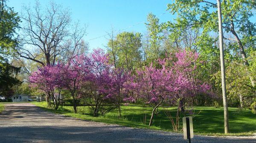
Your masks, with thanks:
[[[239,52],[243,63],[250,69],[248,52],[255,50],[255,23],[251,21],[256,2],[253,0],[223,0],[221,3],[225,39],[236,42],[233,52]],[[176,22],[167,22],[170,30],[180,32],[192,28],[200,29],[203,34],[218,32],[217,4],[207,0],[175,0],[168,4],[168,10],[177,14]],[[178,36],[177,34],[177,36]],[[231,36],[229,36],[231,35]],[[175,33],[172,34],[175,36]],[[253,47],[254,46],[254,47]],[[247,71],[251,85],[255,86],[255,77]]]

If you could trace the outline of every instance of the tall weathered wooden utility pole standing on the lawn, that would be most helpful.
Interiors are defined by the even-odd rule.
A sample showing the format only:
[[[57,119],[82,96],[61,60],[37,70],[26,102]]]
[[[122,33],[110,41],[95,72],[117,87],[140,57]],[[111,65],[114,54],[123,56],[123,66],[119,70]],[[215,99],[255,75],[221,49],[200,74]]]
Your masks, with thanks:
[[[227,110],[227,95],[226,95],[226,77],[225,77],[225,64],[224,64],[224,48],[223,48],[223,31],[222,31],[222,18],[221,18],[221,0],[217,0],[218,6],[218,26],[219,26],[219,42],[220,42],[220,58],[221,58],[221,87],[223,96],[224,107],[224,128],[225,134],[228,133],[228,110]]]

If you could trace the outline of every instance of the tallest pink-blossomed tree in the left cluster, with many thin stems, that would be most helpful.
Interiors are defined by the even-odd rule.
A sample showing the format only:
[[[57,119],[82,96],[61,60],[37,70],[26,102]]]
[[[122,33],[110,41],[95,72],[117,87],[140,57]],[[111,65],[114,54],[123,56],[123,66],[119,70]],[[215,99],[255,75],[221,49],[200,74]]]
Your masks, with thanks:
[[[93,116],[104,115],[116,107],[110,94],[112,65],[108,62],[108,54],[105,54],[102,49],[93,50],[89,58],[92,76],[83,87],[84,102],[89,106]]]

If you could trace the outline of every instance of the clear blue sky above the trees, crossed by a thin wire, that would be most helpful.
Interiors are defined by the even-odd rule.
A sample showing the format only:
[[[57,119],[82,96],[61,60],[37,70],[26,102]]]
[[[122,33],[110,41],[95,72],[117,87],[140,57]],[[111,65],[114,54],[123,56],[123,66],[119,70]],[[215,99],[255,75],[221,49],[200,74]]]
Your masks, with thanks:
[[[49,0],[39,0],[42,6],[46,6]],[[7,4],[14,7],[20,13],[22,5],[33,5],[35,0],[9,0]],[[104,48],[107,44],[106,38],[93,39],[107,34],[111,31],[111,26],[118,31],[123,28],[125,31],[146,32],[143,21],[149,12],[159,16],[166,12],[167,4],[172,0],[55,0],[55,3],[62,4],[63,7],[70,8],[73,21],[79,20],[81,24],[86,24],[87,36],[85,41],[89,43],[90,49]],[[170,13],[159,16],[160,22],[173,20]],[[138,24],[139,22],[142,22]],[[122,32],[122,31],[121,31]],[[93,39],[93,40],[89,40]]]

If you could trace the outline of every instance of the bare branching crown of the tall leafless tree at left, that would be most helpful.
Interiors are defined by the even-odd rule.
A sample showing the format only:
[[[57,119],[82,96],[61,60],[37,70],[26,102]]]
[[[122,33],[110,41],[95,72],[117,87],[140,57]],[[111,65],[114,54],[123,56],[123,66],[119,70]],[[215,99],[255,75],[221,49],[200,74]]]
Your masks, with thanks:
[[[82,39],[85,28],[72,23],[70,11],[61,5],[49,3],[43,8],[39,2],[33,8],[23,7],[22,43],[20,57],[41,66],[53,65],[57,60],[67,61],[83,52],[86,43]]]

